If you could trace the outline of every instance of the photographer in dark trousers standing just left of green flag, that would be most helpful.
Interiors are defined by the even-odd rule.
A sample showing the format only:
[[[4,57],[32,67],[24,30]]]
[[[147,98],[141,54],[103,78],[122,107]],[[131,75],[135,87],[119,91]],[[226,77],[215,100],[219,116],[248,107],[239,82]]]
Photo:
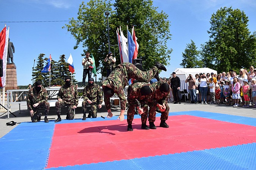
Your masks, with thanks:
[[[90,53],[86,52],[85,57],[82,59],[83,65],[83,87],[85,87],[85,79],[88,74],[88,79],[91,78],[91,71],[93,70],[93,59],[90,57]]]

